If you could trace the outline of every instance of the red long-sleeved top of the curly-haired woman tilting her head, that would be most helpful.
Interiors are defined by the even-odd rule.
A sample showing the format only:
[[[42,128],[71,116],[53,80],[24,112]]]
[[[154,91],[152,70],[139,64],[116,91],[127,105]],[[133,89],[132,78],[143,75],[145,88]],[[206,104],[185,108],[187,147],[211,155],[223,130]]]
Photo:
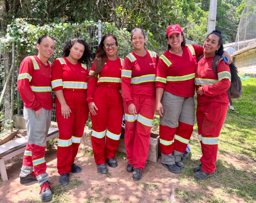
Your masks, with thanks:
[[[52,89],[86,93],[88,74],[85,64],[74,65],[65,57],[56,59],[52,64]]]

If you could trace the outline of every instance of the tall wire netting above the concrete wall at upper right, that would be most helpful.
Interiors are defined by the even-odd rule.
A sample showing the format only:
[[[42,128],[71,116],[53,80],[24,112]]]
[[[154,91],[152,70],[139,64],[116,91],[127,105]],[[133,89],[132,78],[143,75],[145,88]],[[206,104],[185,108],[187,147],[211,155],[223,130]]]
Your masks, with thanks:
[[[241,14],[239,27],[236,35],[235,49],[256,43],[256,0],[247,0]]]

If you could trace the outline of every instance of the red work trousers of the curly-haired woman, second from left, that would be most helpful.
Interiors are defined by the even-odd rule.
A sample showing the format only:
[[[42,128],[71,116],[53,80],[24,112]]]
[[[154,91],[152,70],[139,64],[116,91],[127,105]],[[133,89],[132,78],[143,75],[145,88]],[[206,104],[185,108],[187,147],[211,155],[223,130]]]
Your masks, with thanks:
[[[58,173],[69,173],[75,161],[76,154],[84,133],[84,125],[88,119],[89,108],[86,102],[86,92],[71,92],[64,90],[64,98],[71,109],[70,117],[61,115],[61,105],[56,97],[56,119],[59,128],[59,143],[57,150]]]

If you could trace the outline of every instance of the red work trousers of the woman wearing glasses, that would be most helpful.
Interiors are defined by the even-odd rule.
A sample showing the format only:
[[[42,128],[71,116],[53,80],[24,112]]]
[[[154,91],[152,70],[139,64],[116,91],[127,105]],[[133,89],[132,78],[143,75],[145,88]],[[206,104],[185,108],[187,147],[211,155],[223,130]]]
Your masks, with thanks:
[[[98,108],[92,119],[92,148],[96,164],[114,158],[122,132],[123,99],[118,88],[99,86],[95,89],[93,102]],[[105,143],[105,135],[106,143]]]

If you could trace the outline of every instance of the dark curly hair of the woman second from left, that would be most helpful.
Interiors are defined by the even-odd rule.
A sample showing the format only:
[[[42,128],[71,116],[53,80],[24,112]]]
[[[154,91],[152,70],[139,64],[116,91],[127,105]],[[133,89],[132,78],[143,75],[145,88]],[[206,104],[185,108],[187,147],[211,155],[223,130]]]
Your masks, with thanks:
[[[79,43],[79,44],[84,45],[84,54],[81,57],[81,59],[78,59],[78,61],[80,63],[84,63],[86,65],[89,65],[92,62],[93,55],[92,55],[91,50],[89,49],[88,44],[82,39],[74,38],[74,39],[68,40],[68,42],[65,45],[65,47],[63,49],[63,52],[62,52],[63,56],[68,57],[68,55],[70,53],[70,49],[74,46],[75,43]]]

